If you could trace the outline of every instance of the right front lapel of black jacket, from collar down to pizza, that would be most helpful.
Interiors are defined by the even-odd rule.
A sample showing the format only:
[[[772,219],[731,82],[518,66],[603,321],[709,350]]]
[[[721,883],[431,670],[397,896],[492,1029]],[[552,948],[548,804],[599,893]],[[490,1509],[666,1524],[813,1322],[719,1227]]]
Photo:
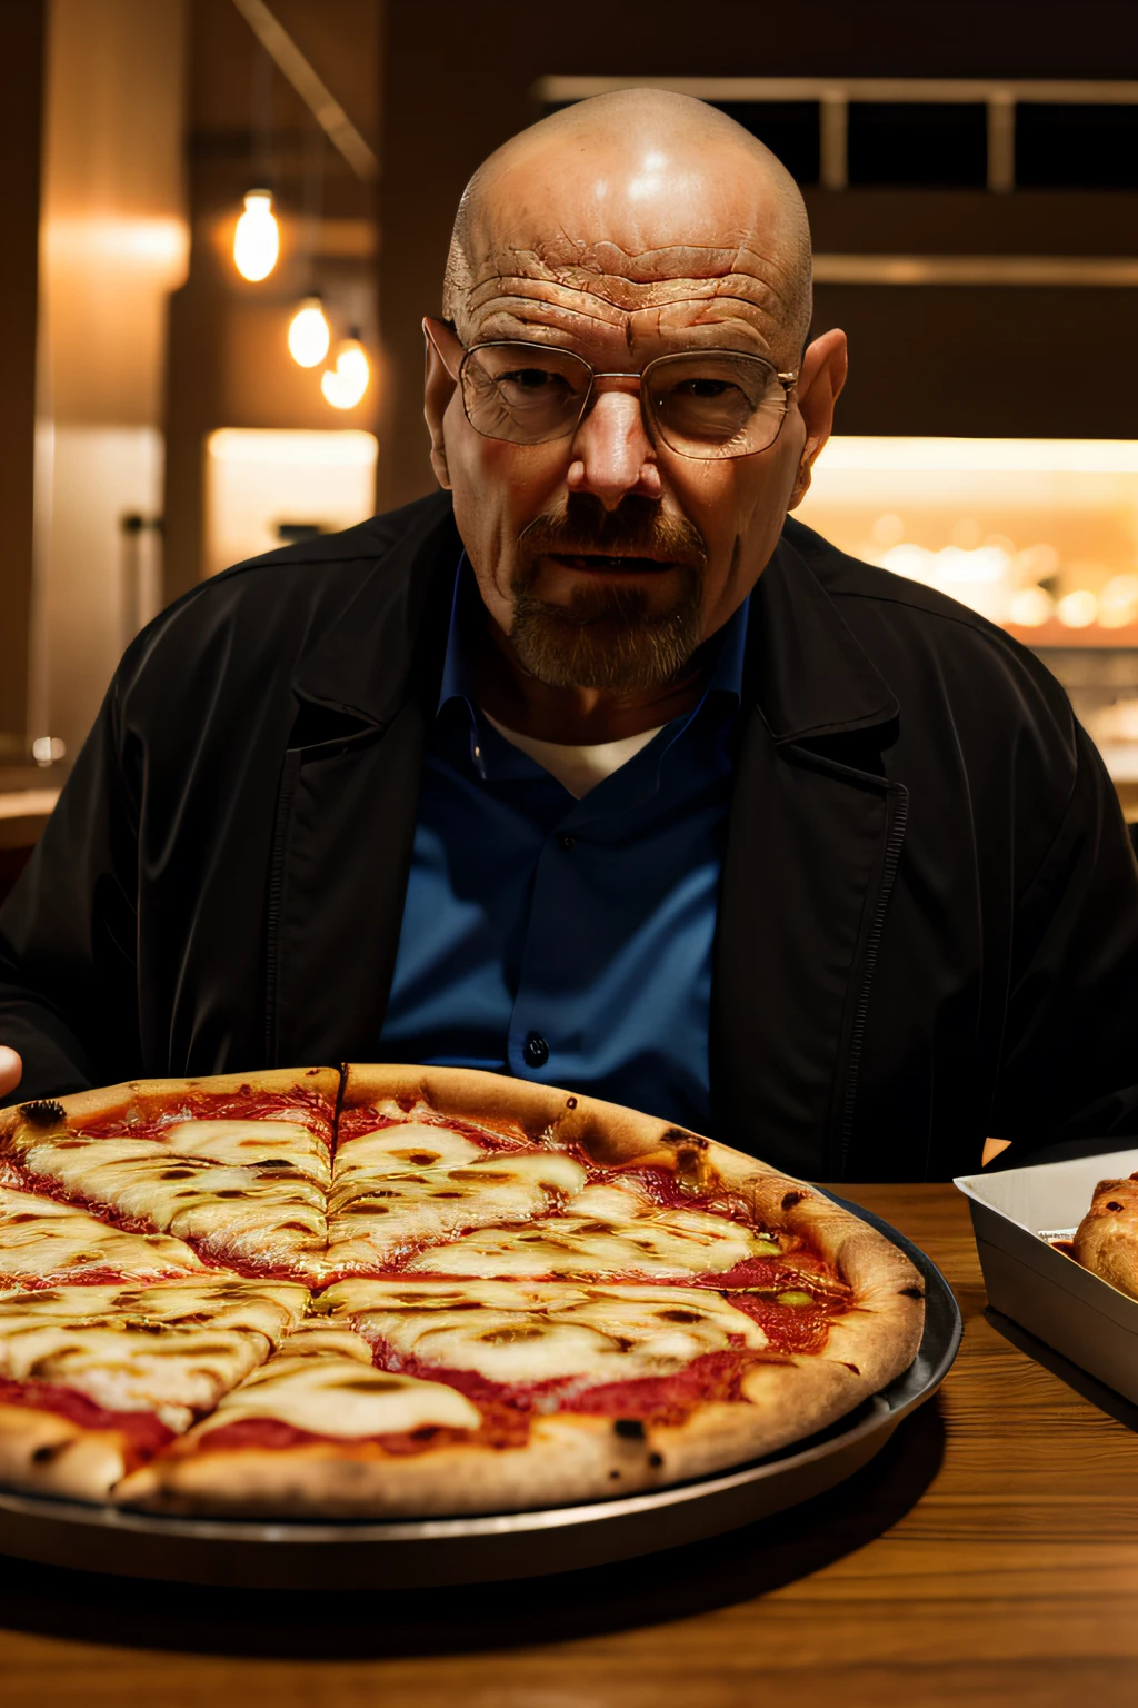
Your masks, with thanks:
[[[904,789],[897,704],[787,538],[754,589],[711,991],[713,1131],[839,1179]]]

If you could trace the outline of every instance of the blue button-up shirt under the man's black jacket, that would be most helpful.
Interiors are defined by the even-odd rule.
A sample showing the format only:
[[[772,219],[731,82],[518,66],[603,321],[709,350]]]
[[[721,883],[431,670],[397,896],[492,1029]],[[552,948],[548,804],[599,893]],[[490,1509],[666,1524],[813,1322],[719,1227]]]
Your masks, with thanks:
[[[706,1131],[747,606],[711,642],[696,709],[575,799],[479,712],[457,593],[380,1059],[510,1073]]]

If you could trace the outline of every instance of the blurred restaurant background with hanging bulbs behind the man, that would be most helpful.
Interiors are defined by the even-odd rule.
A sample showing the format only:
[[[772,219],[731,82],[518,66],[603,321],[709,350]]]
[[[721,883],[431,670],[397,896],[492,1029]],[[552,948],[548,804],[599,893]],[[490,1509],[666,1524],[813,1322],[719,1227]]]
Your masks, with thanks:
[[[918,34],[901,5],[727,3],[696,38],[664,0],[650,32],[618,5],[572,38],[505,0],[0,10],[0,895],[152,615],[432,488],[420,316],[462,183],[630,82],[723,106],[804,188],[851,377],[802,519],[1037,649],[1138,818],[1138,65],[1092,27],[1116,9],[1077,39],[1058,7]]]

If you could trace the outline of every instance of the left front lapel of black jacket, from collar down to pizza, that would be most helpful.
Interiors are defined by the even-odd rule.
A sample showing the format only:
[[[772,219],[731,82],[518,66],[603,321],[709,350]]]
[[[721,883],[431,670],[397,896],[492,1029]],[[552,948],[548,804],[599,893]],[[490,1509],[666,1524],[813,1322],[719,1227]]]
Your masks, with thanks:
[[[449,502],[423,511],[293,680],[270,873],[271,1062],[367,1061],[379,1044],[461,552]]]

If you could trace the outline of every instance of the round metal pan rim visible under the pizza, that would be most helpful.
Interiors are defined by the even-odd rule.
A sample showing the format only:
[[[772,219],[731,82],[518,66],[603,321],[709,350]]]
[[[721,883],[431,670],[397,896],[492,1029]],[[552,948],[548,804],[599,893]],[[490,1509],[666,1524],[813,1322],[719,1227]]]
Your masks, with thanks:
[[[896,1382],[810,1442],[624,1500],[473,1518],[162,1518],[0,1491],[0,1553],[78,1571],[232,1588],[416,1588],[609,1565],[785,1512],[868,1464],[897,1424],[937,1392],[961,1344],[961,1312],[937,1266],[887,1221],[845,1199],[836,1202],[899,1245],[921,1271],[925,1334]]]

